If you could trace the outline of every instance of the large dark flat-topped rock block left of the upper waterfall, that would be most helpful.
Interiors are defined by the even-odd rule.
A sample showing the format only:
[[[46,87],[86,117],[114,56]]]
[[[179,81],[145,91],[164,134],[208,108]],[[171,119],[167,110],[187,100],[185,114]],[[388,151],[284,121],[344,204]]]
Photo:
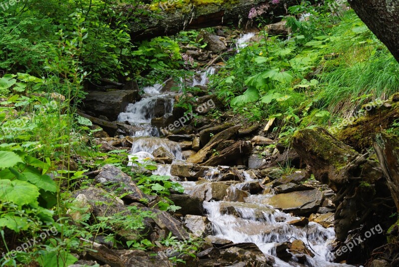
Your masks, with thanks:
[[[134,103],[138,96],[138,90],[90,91],[83,101],[83,109],[89,115],[103,115],[115,121],[119,113],[124,112],[128,104]]]

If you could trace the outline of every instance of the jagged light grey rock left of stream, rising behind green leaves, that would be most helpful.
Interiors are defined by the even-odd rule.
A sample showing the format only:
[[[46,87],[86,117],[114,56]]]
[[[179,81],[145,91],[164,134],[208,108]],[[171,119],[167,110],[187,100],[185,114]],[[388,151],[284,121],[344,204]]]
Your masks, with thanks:
[[[122,190],[120,194],[128,193],[124,196],[125,199],[140,202],[145,198],[144,193],[136,186],[132,178],[113,165],[107,164],[102,167],[94,179],[106,190],[114,192],[115,189],[120,189]]]

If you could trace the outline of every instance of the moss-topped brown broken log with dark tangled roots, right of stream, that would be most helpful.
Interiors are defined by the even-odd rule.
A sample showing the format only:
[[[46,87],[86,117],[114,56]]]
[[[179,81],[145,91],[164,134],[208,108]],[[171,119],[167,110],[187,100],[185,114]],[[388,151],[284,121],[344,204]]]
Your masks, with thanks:
[[[391,194],[377,160],[357,153],[321,127],[297,132],[293,146],[315,178],[337,192],[338,240],[345,241],[350,230],[366,222],[373,225],[392,213]]]

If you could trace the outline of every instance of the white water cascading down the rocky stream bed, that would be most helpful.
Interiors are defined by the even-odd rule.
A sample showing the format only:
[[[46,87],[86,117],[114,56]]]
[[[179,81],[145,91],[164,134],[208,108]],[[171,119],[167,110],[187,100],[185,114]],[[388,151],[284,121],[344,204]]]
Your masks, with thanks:
[[[244,47],[245,41],[250,39],[254,33],[243,35],[237,42],[237,47]],[[214,73],[213,68],[199,73],[193,78],[193,85],[205,85],[208,75]],[[174,163],[184,163],[182,150],[179,143],[172,142],[165,138],[159,138],[158,130],[151,125],[151,119],[159,116],[160,113],[171,113],[174,104],[174,93],[163,93],[163,85],[156,84],[151,87],[143,88],[145,92],[141,101],[130,104],[124,113],[119,115],[119,121],[128,121],[131,125],[137,126],[138,130],[132,133],[133,147],[130,158],[135,157],[137,161],[143,162],[146,159],[152,159],[152,153],[160,148],[165,148],[175,157]],[[160,104],[162,103],[162,105]],[[161,108],[159,107],[161,105]],[[164,108],[164,110],[161,110]],[[158,110],[158,111],[157,111]],[[170,164],[159,164],[158,169],[153,172],[156,175],[171,176]],[[220,178],[221,169],[228,167],[211,167],[204,177],[208,181],[217,181]],[[240,177],[241,182],[232,184],[229,188],[231,192],[242,189],[248,183],[253,183],[254,175],[250,171],[234,170],[234,173]],[[172,176],[171,176],[172,177]],[[185,188],[186,194],[193,194],[196,191],[196,182],[179,181],[178,177],[172,177]],[[203,207],[207,213],[209,221],[212,223],[213,235],[232,241],[233,243],[254,243],[266,255],[275,259],[276,267],[290,266],[311,266],[311,267],[330,267],[330,266],[348,266],[342,264],[333,264],[327,261],[330,254],[330,244],[335,240],[333,228],[323,228],[321,225],[310,222],[306,227],[296,227],[288,222],[299,219],[289,214],[273,209],[267,205],[265,200],[272,193],[264,195],[249,195],[244,202],[204,202]],[[233,216],[228,213],[222,213],[225,206],[234,207],[237,212]],[[289,261],[284,262],[276,257],[275,246],[278,243],[287,241],[301,240],[307,245],[307,248],[315,255],[314,258],[306,256],[304,265],[296,262],[295,256]]]

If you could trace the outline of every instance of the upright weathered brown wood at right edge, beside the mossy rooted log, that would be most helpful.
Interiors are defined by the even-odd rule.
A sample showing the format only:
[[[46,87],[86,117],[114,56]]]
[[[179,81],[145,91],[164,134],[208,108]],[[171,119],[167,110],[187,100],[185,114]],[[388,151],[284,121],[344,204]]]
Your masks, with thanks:
[[[398,137],[380,133],[374,141],[374,149],[387,178],[395,205],[399,211],[399,140]]]

